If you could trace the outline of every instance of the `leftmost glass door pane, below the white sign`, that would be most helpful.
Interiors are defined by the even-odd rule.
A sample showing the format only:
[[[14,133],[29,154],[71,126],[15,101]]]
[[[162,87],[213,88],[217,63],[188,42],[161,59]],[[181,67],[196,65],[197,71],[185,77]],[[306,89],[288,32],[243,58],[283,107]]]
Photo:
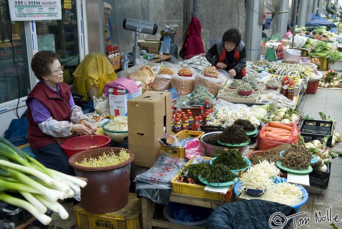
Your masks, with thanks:
[[[7,0],[0,0],[0,104],[30,92],[23,21],[11,22]]]

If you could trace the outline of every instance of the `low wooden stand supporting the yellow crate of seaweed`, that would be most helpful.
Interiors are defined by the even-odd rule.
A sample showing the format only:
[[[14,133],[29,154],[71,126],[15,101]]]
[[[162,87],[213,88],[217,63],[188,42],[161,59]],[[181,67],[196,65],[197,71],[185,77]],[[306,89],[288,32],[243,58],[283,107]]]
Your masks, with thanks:
[[[232,185],[228,191],[232,190],[234,185]],[[221,205],[230,203],[232,199],[224,200],[212,200],[195,196],[188,196],[183,194],[177,194],[172,192],[170,196],[171,202],[181,203],[181,204],[189,204],[194,206],[200,206],[204,208],[217,208]],[[152,229],[153,227],[166,228],[166,229],[195,229],[202,228],[197,226],[187,226],[181,223],[173,223],[171,221],[164,221],[160,219],[153,218],[155,203],[150,201],[149,199],[143,197],[141,198],[142,205],[142,215],[143,215],[143,225],[144,229]],[[203,229],[203,228],[202,228]]]

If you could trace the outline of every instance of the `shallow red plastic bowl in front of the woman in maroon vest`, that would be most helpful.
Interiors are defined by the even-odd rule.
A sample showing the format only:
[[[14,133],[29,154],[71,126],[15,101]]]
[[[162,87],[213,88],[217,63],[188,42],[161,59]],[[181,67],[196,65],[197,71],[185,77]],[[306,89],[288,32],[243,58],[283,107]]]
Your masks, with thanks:
[[[93,136],[78,136],[70,138],[61,144],[65,154],[71,157],[75,153],[87,149],[96,149],[100,147],[108,147],[111,139],[106,135],[93,135]]]

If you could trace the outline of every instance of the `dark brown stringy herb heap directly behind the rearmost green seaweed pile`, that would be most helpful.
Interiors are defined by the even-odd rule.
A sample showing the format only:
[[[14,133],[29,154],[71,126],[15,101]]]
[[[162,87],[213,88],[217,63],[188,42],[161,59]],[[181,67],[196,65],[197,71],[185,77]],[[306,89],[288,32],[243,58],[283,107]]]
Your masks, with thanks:
[[[241,144],[249,141],[249,137],[241,126],[233,124],[224,129],[218,140],[226,144]]]

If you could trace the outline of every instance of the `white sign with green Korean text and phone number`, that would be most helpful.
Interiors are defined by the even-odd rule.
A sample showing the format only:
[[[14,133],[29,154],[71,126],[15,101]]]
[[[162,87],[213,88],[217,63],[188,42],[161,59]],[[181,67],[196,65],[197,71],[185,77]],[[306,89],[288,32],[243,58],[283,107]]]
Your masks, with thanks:
[[[9,0],[11,21],[61,20],[60,0],[26,1]]]

